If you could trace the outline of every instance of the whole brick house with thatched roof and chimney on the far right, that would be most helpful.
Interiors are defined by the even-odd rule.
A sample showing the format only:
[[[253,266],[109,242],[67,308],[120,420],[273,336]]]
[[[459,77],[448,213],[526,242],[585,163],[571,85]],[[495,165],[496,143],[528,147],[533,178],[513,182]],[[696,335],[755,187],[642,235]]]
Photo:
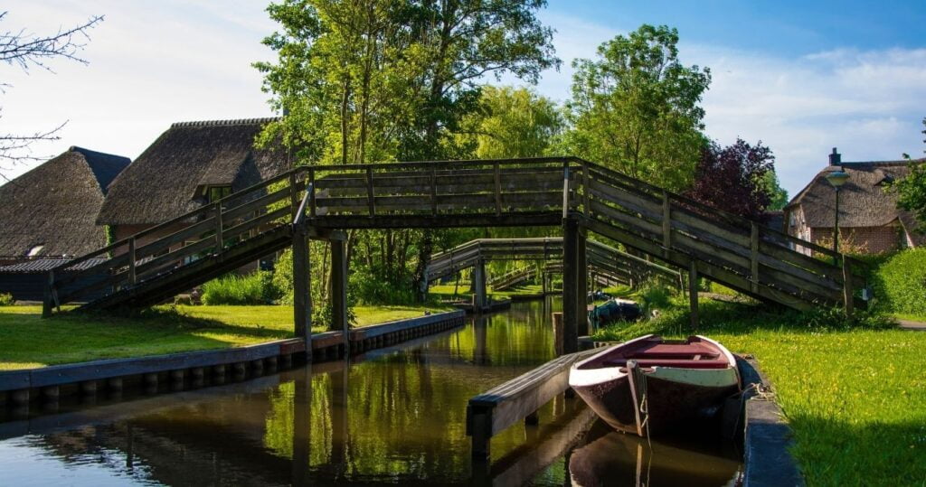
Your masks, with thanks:
[[[923,244],[912,214],[897,208],[897,196],[886,191],[891,181],[904,178],[910,166],[926,159],[842,162],[835,152],[830,164],[785,206],[788,232],[817,244],[832,245],[835,191],[826,181],[838,169],[849,174],[840,189],[840,244],[846,251],[880,253]]]

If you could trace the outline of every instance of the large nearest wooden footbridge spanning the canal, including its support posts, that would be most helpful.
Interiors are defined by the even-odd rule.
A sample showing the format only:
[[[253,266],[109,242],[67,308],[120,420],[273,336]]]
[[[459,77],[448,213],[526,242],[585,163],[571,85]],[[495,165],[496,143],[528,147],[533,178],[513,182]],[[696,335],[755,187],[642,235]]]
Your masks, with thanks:
[[[178,224],[186,226],[169,231]],[[800,309],[842,303],[851,311],[864,282],[853,274],[857,261],[830,249],[575,157],[433,161],[289,170],[53,269],[44,314],[94,291],[104,296],[79,308],[149,306],[292,245],[295,330],[308,336],[309,238],[332,242],[332,304],[345,325],[343,230],[526,226],[562,227],[567,337],[584,314],[588,232]],[[105,260],[79,267],[94,258]],[[86,274],[104,279],[68,286]],[[572,338],[567,351],[576,349]]]

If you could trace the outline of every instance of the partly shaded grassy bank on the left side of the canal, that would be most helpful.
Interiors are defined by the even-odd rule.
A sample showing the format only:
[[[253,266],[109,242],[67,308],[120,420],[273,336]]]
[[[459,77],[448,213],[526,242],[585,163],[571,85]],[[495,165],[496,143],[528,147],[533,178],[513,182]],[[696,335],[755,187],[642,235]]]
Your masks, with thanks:
[[[357,306],[354,311],[357,325],[369,326],[446,309]],[[292,306],[157,306],[136,317],[65,313],[42,319],[41,314],[41,306],[0,307],[0,370],[208,350],[293,336]]]

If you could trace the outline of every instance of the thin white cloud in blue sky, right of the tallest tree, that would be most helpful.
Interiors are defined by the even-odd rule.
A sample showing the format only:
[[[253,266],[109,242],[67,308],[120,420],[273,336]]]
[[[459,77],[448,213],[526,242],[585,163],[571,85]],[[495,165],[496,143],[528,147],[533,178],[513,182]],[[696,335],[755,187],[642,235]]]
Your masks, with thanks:
[[[561,15],[544,21],[557,29],[559,73],[544,73],[542,94],[569,96],[573,57],[593,57],[617,29]],[[710,67],[705,94],[707,134],[721,144],[737,136],[762,140],[790,194],[827,162],[832,147],[843,159],[898,159],[921,155],[926,116],[926,49],[841,49],[787,58],[717,45],[680,44],[685,64]]]

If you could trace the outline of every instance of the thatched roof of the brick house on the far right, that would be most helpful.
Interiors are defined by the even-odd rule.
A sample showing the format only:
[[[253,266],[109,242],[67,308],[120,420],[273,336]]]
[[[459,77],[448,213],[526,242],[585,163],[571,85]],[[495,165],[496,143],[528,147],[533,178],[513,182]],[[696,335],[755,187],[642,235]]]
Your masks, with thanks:
[[[826,181],[826,175],[833,170],[843,169],[849,174],[849,180],[839,194],[840,227],[881,227],[897,219],[912,221],[907,212],[897,208],[896,194],[885,190],[887,183],[906,177],[911,164],[923,162],[926,159],[843,162],[839,166],[828,166],[785,209],[790,211],[801,206],[808,227],[832,228],[835,192],[829,181]]]

